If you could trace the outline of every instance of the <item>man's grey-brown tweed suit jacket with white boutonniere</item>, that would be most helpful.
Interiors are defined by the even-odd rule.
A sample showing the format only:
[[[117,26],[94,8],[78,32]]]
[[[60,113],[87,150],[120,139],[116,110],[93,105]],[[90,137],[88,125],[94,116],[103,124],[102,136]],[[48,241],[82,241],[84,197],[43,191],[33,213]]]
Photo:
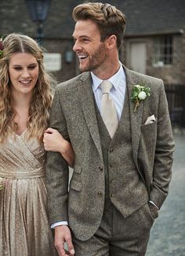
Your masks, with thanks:
[[[160,208],[168,195],[175,147],[164,84],[162,80],[123,67],[129,92],[132,161],[146,184],[148,198]],[[140,102],[134,112],[131,97],[136,84],[150,87],[151,97]],[[155,121],[146,124],[151,116]],[[47,154],[50,222],[68,221],[78,239],[89,239],[100,225],[104,204],[104,195],[100,191],[104,191],[105,186],[90,72],[83,72],[56,87],[50,126],[71,142],[75,154],[69,190],[67,162],[59,153]],[[115,134],[113,143],[116,138]],[[124,161],[119,168],[124,168]]]

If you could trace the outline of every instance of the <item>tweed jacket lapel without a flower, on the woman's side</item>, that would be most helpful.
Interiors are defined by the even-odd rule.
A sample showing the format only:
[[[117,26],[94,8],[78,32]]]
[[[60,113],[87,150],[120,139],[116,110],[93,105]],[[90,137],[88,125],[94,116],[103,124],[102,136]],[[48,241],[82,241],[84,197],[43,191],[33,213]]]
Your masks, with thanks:
[[[92,135],[93,141],[103,161],[103,155],[100,145],[100,133],[96,120],[95,102],[92,89],[92,78],[89,72],[82,75],[80,83],[78,83],[78,98],[82,103],[82,111],[84,113],[85,121],[88,125],[89,132]]]

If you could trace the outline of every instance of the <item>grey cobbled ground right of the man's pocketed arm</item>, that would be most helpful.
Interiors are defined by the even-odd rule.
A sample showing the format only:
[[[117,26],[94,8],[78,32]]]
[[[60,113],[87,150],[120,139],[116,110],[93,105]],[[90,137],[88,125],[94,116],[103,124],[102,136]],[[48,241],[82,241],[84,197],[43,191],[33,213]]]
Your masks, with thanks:
[[[175,134],[169,195],[151,229],[146,256],[185,256],[185,132]]]

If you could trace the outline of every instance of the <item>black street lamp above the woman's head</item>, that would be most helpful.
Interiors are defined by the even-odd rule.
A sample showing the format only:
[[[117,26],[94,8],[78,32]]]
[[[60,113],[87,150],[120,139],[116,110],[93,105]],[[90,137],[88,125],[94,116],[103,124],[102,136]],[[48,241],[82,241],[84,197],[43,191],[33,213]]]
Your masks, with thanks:
[[[38,24],[38,43],[44,38],[43,24],[47,18],[51,0],[25,0],[31,14],[31,20]]]

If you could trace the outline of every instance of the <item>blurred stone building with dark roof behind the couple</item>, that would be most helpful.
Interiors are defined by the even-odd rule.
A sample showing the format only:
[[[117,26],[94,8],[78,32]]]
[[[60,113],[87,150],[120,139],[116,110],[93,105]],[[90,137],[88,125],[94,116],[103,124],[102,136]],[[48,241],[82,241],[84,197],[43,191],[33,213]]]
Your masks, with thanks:
[[[59,82],[79,73],[72,51],[74,6],[80,0],[51,0],[44,23],[42,46],[60,56],[60,69],[53,71]],[[89,2],[93,2],[90,1]],[[183,109],[185,126],[185,1],[184,0],[102,0],[121,9],[126,30],[120,59],[129,69],[156,76],[165,82],[169,110]],[[31,20],[27,0],[1,0],[0,34],[20,32],[37,38],[37,24]],[[54,61],[50,66],[54,66]],[[178,96],[178,97],[177,97]]]

